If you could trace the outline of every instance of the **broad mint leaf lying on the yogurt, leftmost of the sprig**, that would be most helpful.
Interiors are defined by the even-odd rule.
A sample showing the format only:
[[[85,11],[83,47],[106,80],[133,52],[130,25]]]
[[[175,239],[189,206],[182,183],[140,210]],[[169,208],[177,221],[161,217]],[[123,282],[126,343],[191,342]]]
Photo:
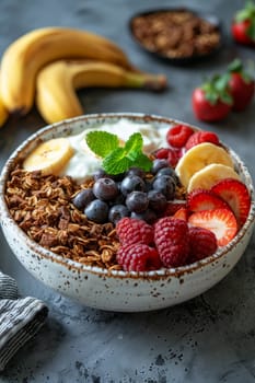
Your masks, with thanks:
[[[107,131],[90,131],[85,137],[88,147],[98,156],[106,156],[118,148],[118,136]]]

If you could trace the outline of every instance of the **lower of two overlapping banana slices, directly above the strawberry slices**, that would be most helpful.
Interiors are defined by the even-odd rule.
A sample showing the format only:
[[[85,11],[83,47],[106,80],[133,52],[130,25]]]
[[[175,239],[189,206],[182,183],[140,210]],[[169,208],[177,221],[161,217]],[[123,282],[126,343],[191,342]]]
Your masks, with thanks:
[[[215,163],[207,165],[192,176],[187,192],[190,193],[198,188],[210,189],[218,181],[223,178],[240,179],[240,176],[233,167]]]

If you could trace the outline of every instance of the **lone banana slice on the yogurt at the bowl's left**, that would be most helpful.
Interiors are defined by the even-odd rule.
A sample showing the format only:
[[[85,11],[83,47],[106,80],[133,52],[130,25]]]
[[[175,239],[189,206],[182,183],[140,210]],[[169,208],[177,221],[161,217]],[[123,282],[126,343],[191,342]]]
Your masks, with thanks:
[[[24,160],[26,171],[42,171],[43,175],[55,174],[65,167],[73,154],[73,149],[67,138],[54,138],[40,143]]]

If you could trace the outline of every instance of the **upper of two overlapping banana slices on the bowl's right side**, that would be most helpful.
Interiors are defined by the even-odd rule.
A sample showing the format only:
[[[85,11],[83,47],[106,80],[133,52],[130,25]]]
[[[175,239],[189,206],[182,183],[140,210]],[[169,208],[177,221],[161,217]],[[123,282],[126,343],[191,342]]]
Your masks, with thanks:
[[[210,142],[202,142],[189,149],[181,158],[175,172],[183,186],[187,187],[192,176],[211,163],[234,167],[233,160],[223,148]]]

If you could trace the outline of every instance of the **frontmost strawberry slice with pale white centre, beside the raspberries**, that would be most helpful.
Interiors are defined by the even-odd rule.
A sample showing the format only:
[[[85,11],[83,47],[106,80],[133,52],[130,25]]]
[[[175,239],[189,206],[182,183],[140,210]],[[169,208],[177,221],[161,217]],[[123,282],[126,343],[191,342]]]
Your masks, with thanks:
[[[193,227],[212,231],[217,237],[218,246],[225,246],[237,232],[237,222],[230,209],[202,210],[194,212],[188,218]]]

